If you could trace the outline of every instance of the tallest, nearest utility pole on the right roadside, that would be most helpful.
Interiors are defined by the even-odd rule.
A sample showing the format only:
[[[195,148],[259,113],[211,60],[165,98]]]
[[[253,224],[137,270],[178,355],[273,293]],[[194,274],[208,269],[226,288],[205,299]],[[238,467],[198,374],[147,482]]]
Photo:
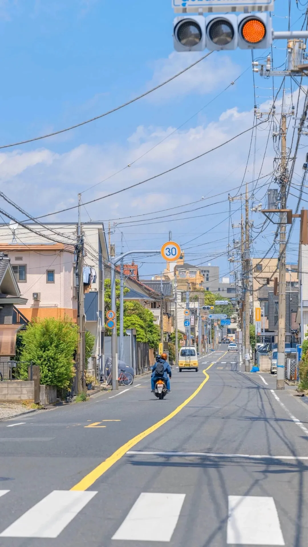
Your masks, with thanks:
[[[283,111],[284,94],[281,111],[281,182],[280,208],[286,209],[287,195],[287,115]],[[277,344],[277,382],[276,389],[284,389],[284,349],[286,342],[286,213],[280,213],[280,246],[279,246],[279,294],[278,294],[278,344]]]

